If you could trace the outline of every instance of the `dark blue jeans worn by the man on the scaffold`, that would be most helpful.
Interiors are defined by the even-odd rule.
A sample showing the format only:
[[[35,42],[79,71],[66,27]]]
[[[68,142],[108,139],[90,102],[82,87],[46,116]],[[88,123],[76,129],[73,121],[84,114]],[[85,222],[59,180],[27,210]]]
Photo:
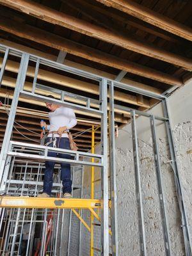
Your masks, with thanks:
[[[45,143],[49,141],[50,138],[47,138]],[[70,143],[68,138],[56,138],[56,145],[58,148],[70,149]],[[58,145],[59,143],[59,145]],[[52,147],[52,143],[49,144],[49,147]],[[56,152],[48,152],[47,156],[51,157],[60,157],[65,159],[70,159],[70,155],[68,154],[57,154]],[[44,193],[51,195],[52,189],[52,175],[54,171],[54,162],[45,161],[45,175],[44,175]],[[63,193],[71,193],[72,191],[72,180],[70,179],[70,164],[61,163],[61,180],[63,184]]]

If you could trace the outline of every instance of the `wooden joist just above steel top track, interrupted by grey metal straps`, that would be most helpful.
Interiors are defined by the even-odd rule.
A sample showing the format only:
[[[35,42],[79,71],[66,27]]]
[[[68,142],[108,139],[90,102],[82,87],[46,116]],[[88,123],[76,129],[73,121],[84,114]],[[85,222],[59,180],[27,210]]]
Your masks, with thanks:
[[[11,42],[11,41],[5,40],[3,38],[0,38],[0,44],[4,44],[4,45],[7,45],[8,47],[12,47],[12,48],[18,49],[20,51],[24,51],[24,52],[28,52],[30,54],[34,54],[36,56],[40,56],[40,57],[45,58],[47,60],[52,60],[52,61],[57,60],[57,56],[54,56],[52,54],[48,54],[46,52],[38,51],[36,49],[33,49],[31,47],[27,47],[27,46],[24,46],[24,45],[21,45],[21,44],[16,44],[15,42]],[[103,77],[113,79],[113,80],[115,80],[115,77],[116,77],[115,75],[109,74],[108,72],[104,72],[104,71],[98,70],[96,68],[88,67],[86,65],[83,65],[83,64],[80,64],[80,63],[77,63],[77,62],[74,62],[74,61],[70,61],[70,60],[67,60],[67,59],[65,59],[65,65],[68,65],[68,66],[74,67],[74,68],[79,68],[79,69],[84,70],[86,72],[93,73],[97,76],[103,76]],[[122,83],[129,84],[129,85],[134,86],[136,88],[140,88],[140,89],[143,89],[143,90],[148,90],[150,92],[154,92],[154,93],[157,93],[157,94],[161,94],[163,92],[163,90],[161,90],[159,88],[148,86],[147,84],[143,84],[143,83],[138,83],[136,81],[133,81],[133,80],[127,79],[127,78],[123,78]]]

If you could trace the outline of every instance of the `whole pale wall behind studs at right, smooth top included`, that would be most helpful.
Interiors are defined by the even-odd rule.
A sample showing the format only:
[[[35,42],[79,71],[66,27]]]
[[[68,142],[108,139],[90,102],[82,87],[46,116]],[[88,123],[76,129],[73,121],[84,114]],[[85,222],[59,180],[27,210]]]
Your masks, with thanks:
[[[172,116],[173,136],[179,164],[179,173],[184,193],[184,202],[189,220],[189,230],[192,234],[192,81],[177,90],[168,99],[170,114]],[[163,116],[161,104],[150,110],[154,115]],[[145,232],[147,242],[147,255],[163,256],[163,228],[159,208],[157,179],[154,168],[152,138],[148,118],[139,117],[136,120],[140,150],[141,188],[143,198],[143,211],[145,219]],[[175,193],[173,171],[170,166],[170,154],[165,127],[162,122],[156,123],[157,141],[161,160],[161,174],[166,203],[166,212],[170,228],[172,255],[182,256],[184,241],[180,228],[180,214]],[[100,148],[97,148],[99,153]],[[95,179],[100,177],[100,171],[95,171]],[[136,201],[134,161],[132,157],[131,124],[127,124],[119,131],[116,138],[116,181],[118,204],[118,241],[120,256],[139,256],[140,237],[138,227],[138,208]],[[90,198],[90,168],[84,169],[84,198]],[[100,198],[100,184],[95,184],[95,198]],[[89,223],[90,214],[83,212],[84,220]],[[95,221],[96,222],[96,221]],[[100,230],[95,228],[96,248],[100,246]],[[191,237],[192,239],[192,237]],[[74,242],[75,243],[75,242]],[[81,239],[81,255],[90,255],[90,234],[83,227]],[[95,252],[94,255],[100,255]],[[72,253],[71,256],[76,256]]]

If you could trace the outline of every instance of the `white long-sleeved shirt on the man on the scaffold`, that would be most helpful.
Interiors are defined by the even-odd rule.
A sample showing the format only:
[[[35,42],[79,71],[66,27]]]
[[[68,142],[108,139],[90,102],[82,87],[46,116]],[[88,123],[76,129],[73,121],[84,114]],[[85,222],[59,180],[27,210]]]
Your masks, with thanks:
[[[58,131],[62,126],[67,126],[67,130],[71,129],[77,124],[76,115],[73,109],[60,107],[55,109],[53,112],[49,112],[49,122],[50,125],[47,125],[47,130]],[[52,134],[49,134],[47,137],[51,137]],[[59,134],[54,134],[54,137],[60,137]],[[68,138],[67,133],[63,133],[61,137]]]

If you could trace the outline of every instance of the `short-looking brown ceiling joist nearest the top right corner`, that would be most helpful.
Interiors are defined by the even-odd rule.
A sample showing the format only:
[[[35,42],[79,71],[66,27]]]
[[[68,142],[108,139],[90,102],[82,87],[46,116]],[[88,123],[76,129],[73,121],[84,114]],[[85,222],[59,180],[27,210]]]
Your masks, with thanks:
[[[173,33],[182,38],[192,41],[192,29],[176,22],[175,20],[169,19],[168,17],[154,12],[149,8],[135,3],[134,1],[125,0],[97,0],[100,3],[116,8],[122,12],[136,17],[137,19],[144,20],[158,28],[164,29],[170,33]]]

